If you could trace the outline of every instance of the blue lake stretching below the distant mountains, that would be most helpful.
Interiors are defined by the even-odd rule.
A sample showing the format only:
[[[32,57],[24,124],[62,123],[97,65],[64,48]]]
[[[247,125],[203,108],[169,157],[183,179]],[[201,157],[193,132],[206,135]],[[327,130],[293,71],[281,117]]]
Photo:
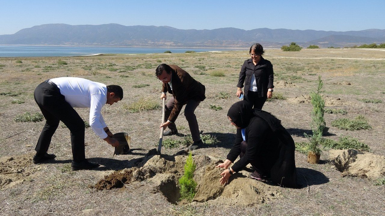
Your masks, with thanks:
[[[97,54],[144,54],[184,53],[187,50],[195,52],[235,50],[226,48],[167,48],[167,47],[82,47],[82,46],[18,46],[1,45],[0,57],[47,57],[47,56],[84,56]]]

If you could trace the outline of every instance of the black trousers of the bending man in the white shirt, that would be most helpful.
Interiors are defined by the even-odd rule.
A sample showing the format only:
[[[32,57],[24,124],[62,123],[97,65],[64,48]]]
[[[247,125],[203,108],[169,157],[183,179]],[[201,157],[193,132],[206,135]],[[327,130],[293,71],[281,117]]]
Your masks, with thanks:
[[[34,92],[34,97],[45,118],[45,125],[36,145],[36,155],[42,156],[48,151],[51,138],[59,121],[71,132],[72,156],[74,161],[85,159],[84,153],[84,121],[72,106],[65,101],[64,95],[56,85],[42,82]]]

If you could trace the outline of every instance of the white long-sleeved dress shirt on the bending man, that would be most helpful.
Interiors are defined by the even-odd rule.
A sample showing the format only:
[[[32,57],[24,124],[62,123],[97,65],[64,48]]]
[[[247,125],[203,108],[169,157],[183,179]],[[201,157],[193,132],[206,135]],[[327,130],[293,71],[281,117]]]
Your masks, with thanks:
[[[65,96],[72,107],[90,108],[90,126],[101,139],[107,137],[104,128],[107,125],[102,116],[102,107],[107,102],[107,86],[77,77],[59,77],[50,79]]]

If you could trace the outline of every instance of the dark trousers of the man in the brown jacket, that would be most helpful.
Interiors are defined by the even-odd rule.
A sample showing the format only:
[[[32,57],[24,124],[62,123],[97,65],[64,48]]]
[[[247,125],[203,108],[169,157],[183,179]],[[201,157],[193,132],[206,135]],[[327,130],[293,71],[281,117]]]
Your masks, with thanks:
[[[199,126],[198,121],[196,120],[196,115],[194,114],[195,109],[198,107],[201,101],[196,100],[188,100],[186,103],[186,107],[184,108],[184,116],[186,116],[186,120],[189,123],[189,128],[191,132],[192,141],[199,141],[201,136],[199,135]],[[169,118],[172,108],[175,105],[175,98],[171,97],[171,99],[167,102],[164,107],[164,122]],[[176,131],[176,125],[174,122],[170,123],[168,128],[172,131]]]

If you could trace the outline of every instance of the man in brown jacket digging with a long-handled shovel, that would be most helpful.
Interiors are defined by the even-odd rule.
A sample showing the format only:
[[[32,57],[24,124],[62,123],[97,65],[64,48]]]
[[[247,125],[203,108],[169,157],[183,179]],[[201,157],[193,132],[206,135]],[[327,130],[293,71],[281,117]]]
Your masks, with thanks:
[[[163,83],[162,98],[167,98],[167,92],[172,94],[172,98],[167,102],[165,107],[164,121],[160,127],[169,130],[164,131],[163,135],[177,134],[175,120],[178,117],[184,105],[184,116],[189,123],[192,141],[194,143],[189,147],[190,150],[203,147],[203,142],[199,135],[199,126],[195,109],[203,101],[205,87],[200,82],[194,80],[186,71],[176,65],[161,64],[156,68],[155,72],[157,78]]]

